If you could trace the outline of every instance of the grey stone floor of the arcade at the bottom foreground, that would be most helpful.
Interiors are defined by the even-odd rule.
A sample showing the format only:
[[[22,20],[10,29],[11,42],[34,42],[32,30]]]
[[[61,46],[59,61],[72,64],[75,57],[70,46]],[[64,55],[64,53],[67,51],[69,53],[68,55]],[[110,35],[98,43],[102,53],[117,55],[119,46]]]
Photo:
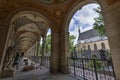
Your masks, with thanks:
[[[20,72],[16,74],[14,77],[0,79],[0,80],[76,80],[71,76],[57,73],[50,74],[47,69],[38,69],[29,72]]]

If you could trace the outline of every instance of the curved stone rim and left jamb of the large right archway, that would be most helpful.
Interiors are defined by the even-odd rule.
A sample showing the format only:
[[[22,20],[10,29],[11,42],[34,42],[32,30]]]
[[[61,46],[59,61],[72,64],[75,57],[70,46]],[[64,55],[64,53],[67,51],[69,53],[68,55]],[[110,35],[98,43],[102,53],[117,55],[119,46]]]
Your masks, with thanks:
[[[78,0],[76,3],[74,3],[73,6],[69,8],[69,11],[67,12],[67,15],[64,19],[64,23],[62,27],[62,34],[61,34],[61,71],[64,73],[68,72],[68,64],[67,64],[67,57],[69,57],[69,23],[73,15],[78,9],[81,9],[84,5],[89,4],[89,3],[97,3],[95,0],[85,0],[85,1],[80,1]]]

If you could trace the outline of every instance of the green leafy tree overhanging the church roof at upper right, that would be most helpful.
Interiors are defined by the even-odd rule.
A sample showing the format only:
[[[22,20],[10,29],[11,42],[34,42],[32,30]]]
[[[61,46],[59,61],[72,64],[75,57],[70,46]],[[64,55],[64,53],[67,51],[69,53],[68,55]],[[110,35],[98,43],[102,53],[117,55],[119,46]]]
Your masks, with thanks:
[[[94,18],[95,23],[94,23],[94,29],[98,31],[100,36],[105,36],[106,35],[106,29],[103,21],[103,16],[101,14],[101,8],[98,7],[97,9],[94,9],[95,12],[99,14],[98,17]]]

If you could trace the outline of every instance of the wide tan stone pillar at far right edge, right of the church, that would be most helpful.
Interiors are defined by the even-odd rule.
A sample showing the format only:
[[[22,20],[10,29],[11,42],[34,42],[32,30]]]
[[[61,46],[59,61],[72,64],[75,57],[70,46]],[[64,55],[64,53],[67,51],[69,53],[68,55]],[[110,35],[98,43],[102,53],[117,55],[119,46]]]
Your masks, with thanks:
[[[103,11],[117,80],[120,80],[120,2]]]

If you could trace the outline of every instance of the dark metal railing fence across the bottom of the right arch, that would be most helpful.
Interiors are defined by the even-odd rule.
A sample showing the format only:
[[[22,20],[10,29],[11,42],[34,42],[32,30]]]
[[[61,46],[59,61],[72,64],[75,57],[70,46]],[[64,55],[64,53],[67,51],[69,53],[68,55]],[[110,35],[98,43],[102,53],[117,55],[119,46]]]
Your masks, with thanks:
[[[112,60],[68,58],[69,74],[80,80],[116,80]]]

